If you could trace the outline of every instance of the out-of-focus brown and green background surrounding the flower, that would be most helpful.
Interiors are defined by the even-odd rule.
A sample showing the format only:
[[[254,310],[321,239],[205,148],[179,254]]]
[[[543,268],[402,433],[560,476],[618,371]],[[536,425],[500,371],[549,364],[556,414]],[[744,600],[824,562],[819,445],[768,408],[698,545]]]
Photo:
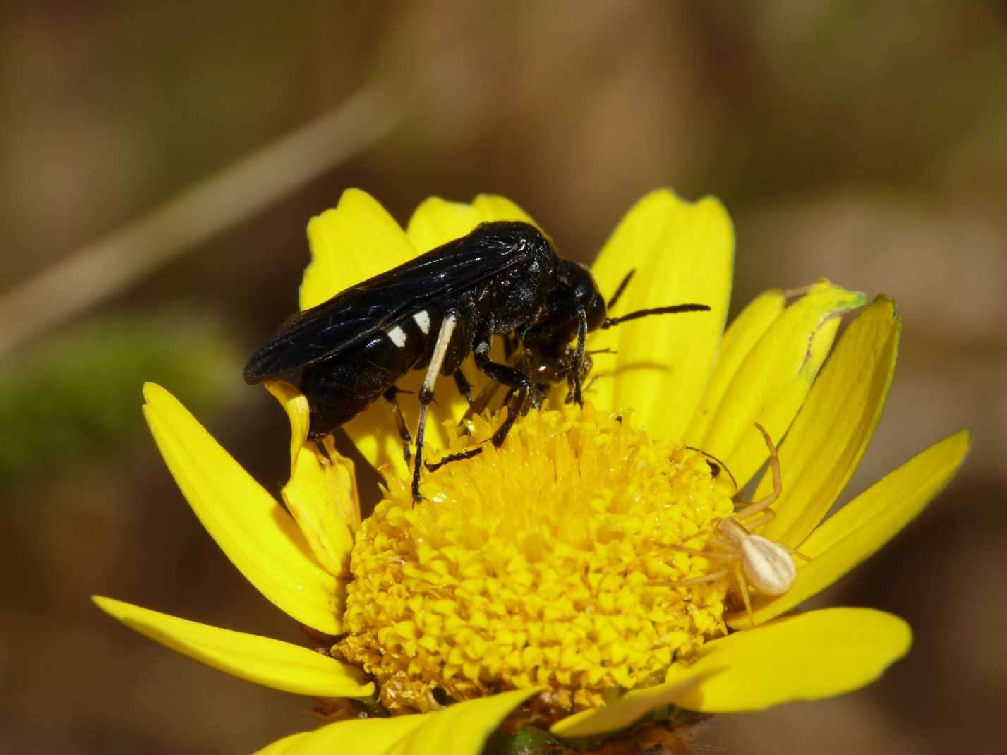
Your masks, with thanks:
[[[845,497],[976,433],[953,485],[818,601],[907,618],[911,655],[854,695],[719,719],[699,751],[1007,752],[1007,5],[8,3],[0,60],[0,752],[240,753],[310,726],[306,700],[88,599],[297,639],[191,515],[140,384],[277,489],[285,420],[241,366],[294,308],[309,215],[346,186],[401,220],[500,192],[587,261],[660,185],[726,203],[735,308],[818,276],[899,302]]]

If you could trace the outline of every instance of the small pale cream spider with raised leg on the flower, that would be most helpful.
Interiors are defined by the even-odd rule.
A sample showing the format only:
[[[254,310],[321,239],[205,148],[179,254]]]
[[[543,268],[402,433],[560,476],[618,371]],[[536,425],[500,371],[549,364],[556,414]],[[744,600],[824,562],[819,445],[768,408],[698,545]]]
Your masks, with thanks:
[[[675,586],[689,587],[704,582],[715,582],[731,574],[738,583],[738,590],[745,602],[745,610],[753,624],[755,617],[752,614],[748,585],[752,585],[762,595],[782,595],[794,587],[794,581],[798,576],[798,569],[794,564],[793,557],[798,556],[806,561],[811,561],[807,556],[793,548],[774,543],[761,535],[752,535],[753,528],[768,524],[775,517],[776,512],[769,506],[775,502],[783,489],[776,447],[765,428],[757,422],[755,427],[762,433],[765,445],[769,448],[772,492],[760,500],[738,503],[737,505],[743,505],[744,508],[718,521],[708,541],[708,545],[712,546],[714,550],[697,551],[694,548],[685,548],[684,546],[671,546],[673,550],[691,556],[726,562],[724,569],[702,577],[676,582]],[[742,524],[742,520],[745,520],[746,524]],[[703,533],[697,533],[697,535],[703,535]]]

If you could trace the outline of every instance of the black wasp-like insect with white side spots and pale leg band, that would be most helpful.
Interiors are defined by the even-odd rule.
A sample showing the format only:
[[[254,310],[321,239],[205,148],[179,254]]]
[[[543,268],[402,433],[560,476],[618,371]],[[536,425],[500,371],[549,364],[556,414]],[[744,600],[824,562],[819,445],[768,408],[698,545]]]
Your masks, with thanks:
[[[579,403],[589,331],[648,314],[705,310],[709,307],[703,304],[679,304],[609,318],[590,271],[560,258],[538,229],[511,220],[483,222],[467,236],[291,315],[249,360],[245,382],[303,368],[300,388],[310,406],[311,438],[332,432],[384,397],[408,459],[411,437],[395,384],[409,370],[425,368],[413,467],[413,497],[419,500],[423,432],[438,374],[453,375],[470,397],[460,367],[471,352],[480,372],[512,389],[507,420],[493,435],[496,446],[526,411],[537,384],[519,366],[490,360],[494,335],[518,343],[537,363],[555,362],[555,379],[565,376]]]

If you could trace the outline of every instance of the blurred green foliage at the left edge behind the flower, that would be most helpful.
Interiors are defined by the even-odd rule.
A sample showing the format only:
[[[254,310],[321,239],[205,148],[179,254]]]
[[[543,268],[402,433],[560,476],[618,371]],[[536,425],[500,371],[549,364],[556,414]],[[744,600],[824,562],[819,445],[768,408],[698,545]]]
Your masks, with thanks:
[[[40,341],[0,371],[0,483],[94,459],[143,427],[145,381],[179,387],[193,412],[234,397],[241,355],[210,319],[104,317]]]

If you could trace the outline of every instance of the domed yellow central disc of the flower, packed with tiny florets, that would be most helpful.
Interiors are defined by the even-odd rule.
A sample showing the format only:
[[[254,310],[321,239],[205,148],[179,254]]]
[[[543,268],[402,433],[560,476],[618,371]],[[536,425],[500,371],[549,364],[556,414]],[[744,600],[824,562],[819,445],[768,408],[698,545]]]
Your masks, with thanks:
[[[589,404],[533,411],[482,448],[427,475],[415,506],[390,478],[357,535],[333,651],[375,675],[390,711],[543,686],[559,718],[725,633],[726,580],[677,586],[716,567],[671,548],[702,549],[734,510],[702,453]]]

